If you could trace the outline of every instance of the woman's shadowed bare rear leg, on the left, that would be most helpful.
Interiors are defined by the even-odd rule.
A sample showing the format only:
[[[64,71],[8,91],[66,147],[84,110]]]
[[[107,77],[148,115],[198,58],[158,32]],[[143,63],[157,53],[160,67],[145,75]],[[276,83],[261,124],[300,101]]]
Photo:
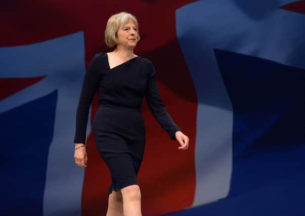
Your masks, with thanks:
[[[106,216],[123,216],[123,198],[121,191],[112,191],[108,198]]]

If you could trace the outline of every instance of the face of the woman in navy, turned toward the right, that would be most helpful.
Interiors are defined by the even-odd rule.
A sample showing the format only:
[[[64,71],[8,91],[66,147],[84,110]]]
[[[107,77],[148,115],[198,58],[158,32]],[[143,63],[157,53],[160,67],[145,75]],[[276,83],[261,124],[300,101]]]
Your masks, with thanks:
[[[135,48],[138,42],[138,31],[133,20],[120,25],[117,31],[117,46]]]

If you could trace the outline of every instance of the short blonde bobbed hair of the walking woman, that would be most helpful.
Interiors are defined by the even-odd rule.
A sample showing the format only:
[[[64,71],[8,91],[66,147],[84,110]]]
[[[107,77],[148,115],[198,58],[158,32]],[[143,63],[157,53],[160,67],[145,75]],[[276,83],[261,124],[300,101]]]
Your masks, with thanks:
[[[140,34],[139,34],[139,25],[138,25],[138,20],[137,18],[129,14],[127,12],[120,12],[118,14],[112,15],[107,22],[106,25],[106,30],[105,30],[105,42],[106,45],[110,48],[116,47],[117,44],[117,31],[119,29],[120,25],[124,25],[127,23],[129,20],[134,21],[136,27],[137,27],[137,32],[138,32],[138,41],[140,40]]]

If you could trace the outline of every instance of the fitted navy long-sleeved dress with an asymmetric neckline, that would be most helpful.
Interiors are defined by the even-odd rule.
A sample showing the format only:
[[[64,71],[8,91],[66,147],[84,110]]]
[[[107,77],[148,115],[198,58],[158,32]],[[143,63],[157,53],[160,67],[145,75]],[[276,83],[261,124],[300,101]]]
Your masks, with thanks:
[[[98,53],[85,74],[76,114],[74,143],[85,143],[89,108],[97,91],[99,108],[92,129],[99,154],[109,167],[112,190],[138,185],[137,175],[145,149],[142,100],[161,127],[175,140],[181,129],[168,114],[157,88],[154,67],[135,57],[110,69],[108,55]]]

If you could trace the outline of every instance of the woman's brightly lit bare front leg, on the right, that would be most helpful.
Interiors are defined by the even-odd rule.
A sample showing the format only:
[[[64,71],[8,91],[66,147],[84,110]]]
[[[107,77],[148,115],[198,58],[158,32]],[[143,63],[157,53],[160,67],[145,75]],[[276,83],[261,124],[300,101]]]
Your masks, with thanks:
[[[130,185],[121,189],[124,216],[141,216],[141,192],[138,185]]]

